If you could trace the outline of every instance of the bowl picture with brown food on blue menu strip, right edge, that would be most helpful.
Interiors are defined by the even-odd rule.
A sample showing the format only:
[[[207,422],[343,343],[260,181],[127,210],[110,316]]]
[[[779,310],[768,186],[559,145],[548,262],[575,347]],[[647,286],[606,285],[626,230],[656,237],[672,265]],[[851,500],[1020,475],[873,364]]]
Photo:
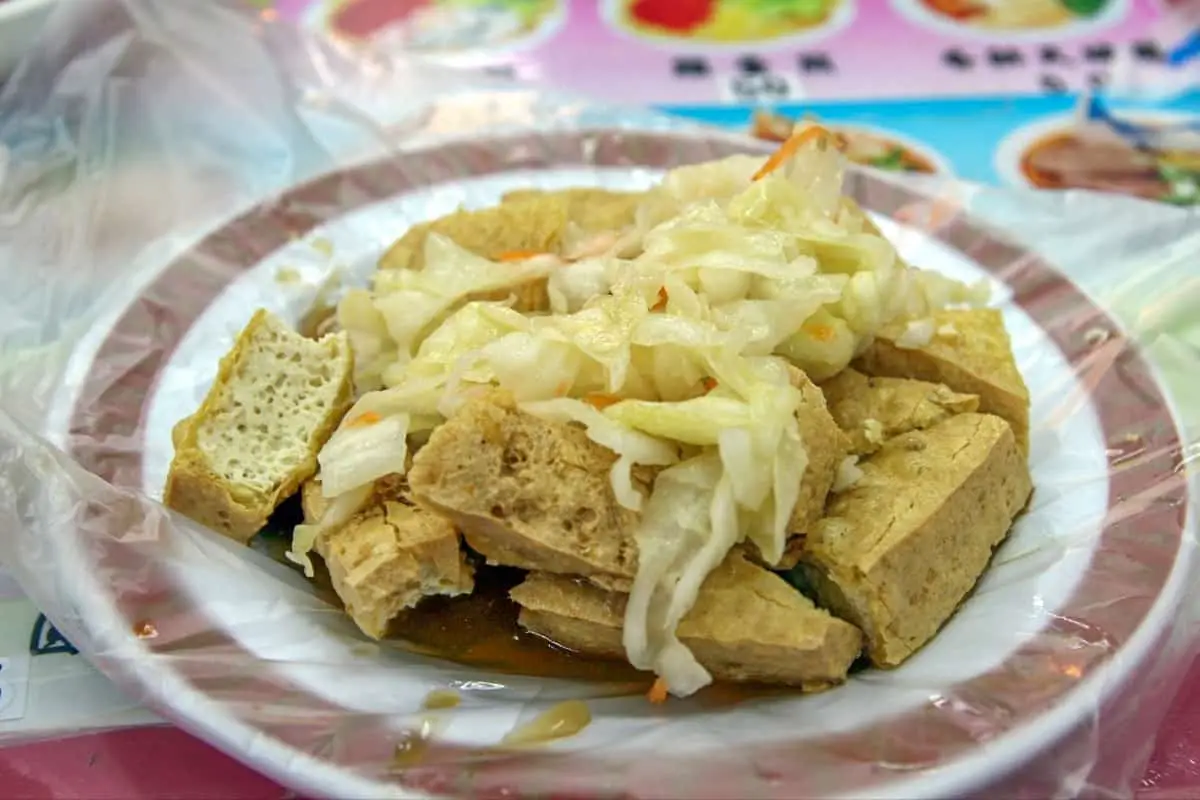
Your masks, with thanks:
[[[1165,113],[1138,118],[1170,125]],[[1104,125],[1057,116],[1019,128],[996,151],[996,170],[1010,184],[1037,188],[1115,192],[1176,205],[1200,205],[1200,133],[1164,137],[1138,148]]]

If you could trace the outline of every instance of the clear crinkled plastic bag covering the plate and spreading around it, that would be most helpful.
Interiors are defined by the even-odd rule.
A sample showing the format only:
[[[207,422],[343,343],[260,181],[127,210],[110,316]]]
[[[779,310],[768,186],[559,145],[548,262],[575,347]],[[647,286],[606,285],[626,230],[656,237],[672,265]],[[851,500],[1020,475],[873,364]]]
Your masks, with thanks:
[[[852,174],[907,258],[995,281],[1033,395],[1032,506],[902,668],[649,706],[648,681],[370,643],[263,548],[156,498],[170,427],[256,307],[299,321],[458,204],[647,186],[761,145],[233,4],[61,6],[0,100],[0,554],[134,697],[330,796],[1132,795],[1198,640],[1195,211]],[[425,710],[439,687],[461,704]],[[499,745],[568,698],[590,710],[578,734]]]

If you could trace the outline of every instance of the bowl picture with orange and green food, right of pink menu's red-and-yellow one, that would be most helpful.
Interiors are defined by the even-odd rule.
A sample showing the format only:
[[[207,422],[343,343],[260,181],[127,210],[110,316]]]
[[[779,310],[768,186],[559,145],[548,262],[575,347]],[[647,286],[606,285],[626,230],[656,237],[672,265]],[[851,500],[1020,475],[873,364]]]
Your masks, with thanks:
[[[1129,0],[893,0],[917,24],[955,35],[1049,38],[1120,23]]]

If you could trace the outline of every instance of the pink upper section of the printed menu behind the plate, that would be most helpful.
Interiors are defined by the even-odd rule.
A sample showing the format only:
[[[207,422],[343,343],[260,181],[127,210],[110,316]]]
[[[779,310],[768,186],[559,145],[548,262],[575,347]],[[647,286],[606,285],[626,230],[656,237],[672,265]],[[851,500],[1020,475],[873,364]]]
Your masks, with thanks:
[[[637,104],[1078,91],[1160,64],[1159,0],[278,0],[350,38]]]

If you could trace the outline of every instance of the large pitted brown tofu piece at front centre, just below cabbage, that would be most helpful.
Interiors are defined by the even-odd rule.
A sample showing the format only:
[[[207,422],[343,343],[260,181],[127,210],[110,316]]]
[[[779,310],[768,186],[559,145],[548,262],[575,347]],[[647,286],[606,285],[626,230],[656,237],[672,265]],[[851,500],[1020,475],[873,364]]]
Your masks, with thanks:
[[[638,516],[613,494],[616,461],[581,427],[526,414],[497,391],[433,431],[408,483],[492,564],[631,581]]]

